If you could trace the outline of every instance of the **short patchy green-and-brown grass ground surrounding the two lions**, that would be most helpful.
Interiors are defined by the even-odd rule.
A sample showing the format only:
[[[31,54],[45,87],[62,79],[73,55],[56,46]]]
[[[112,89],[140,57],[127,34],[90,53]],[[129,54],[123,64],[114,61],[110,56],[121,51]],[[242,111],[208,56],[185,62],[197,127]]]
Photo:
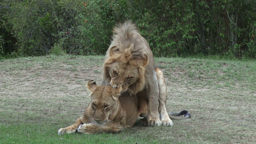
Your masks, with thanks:
[[[0,60],[0,143],[234,144],[256,143],[256,61],[155,58],[168,86],[168,111],[192,118],[173,127],[135,125],[118,134],[58,129],[82,116],[88,80],[101,83],[104,56]]]

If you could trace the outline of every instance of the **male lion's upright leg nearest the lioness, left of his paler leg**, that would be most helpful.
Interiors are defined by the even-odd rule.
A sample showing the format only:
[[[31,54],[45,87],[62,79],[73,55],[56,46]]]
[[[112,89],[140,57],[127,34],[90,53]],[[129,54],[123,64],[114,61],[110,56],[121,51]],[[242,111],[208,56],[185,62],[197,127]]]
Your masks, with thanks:
[[[154,70],[154,76],[152,77],[152,84],[150,84],[148,92],[148,126],[161,126],[162,122],[158,116],[158,82],[156,78],[156,72]]]

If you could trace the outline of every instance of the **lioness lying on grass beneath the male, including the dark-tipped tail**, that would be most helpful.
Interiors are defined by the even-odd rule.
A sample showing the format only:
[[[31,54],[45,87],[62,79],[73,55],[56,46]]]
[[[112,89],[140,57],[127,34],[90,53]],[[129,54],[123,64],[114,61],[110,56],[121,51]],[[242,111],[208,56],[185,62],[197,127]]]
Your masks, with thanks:
[[[86,134],[101,132],[119,132],[126,127],[135,124],[139,116],[147,117],[148,98],[144,92],[138,92],[140,96],[120,96],[122,86],[112,88],[108,85],[97,86],[94,80],[87,84],[88,90],[92,93],[91,103],[86,108],[84,115],[76,120],[74,124],[66,128],[60,128],[58,134],[71,134],[83,132]],[[186,111],[183,114],[186,114]],[[175,115],[183,115],[175,114]],[[169,114],[173,119],[186,119],[190,114],[184,117],[176,117]],[[145,119],[141,119],[144,124]]]

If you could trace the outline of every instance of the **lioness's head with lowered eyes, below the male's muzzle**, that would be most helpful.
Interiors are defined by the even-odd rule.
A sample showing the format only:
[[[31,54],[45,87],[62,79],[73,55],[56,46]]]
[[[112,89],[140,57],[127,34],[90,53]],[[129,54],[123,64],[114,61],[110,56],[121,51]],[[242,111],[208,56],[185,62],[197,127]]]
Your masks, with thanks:
[[[93,110],[93,121],[98,124],[108,122],[108,116],[116,109],[122,86],[118,86],[118,88],[112,88],[107,85],[97,86],[94,80],[90,80],[87,88],[92,92],[89,106]]]

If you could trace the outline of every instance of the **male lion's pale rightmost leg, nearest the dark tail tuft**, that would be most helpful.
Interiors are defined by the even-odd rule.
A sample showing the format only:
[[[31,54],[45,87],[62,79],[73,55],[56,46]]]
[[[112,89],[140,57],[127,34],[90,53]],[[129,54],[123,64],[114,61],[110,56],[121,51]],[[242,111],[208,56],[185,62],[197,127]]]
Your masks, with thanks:
[[[158,89],[159,89],[159,113],[161,117],[161,122],[163,126],[173,126],[173,122],[168,116],[168,112],[166,110],[166,101],[167,101],[167,88],[164,80],[164,74],[159,69],[156,68],[156,76],[158,81]]]

